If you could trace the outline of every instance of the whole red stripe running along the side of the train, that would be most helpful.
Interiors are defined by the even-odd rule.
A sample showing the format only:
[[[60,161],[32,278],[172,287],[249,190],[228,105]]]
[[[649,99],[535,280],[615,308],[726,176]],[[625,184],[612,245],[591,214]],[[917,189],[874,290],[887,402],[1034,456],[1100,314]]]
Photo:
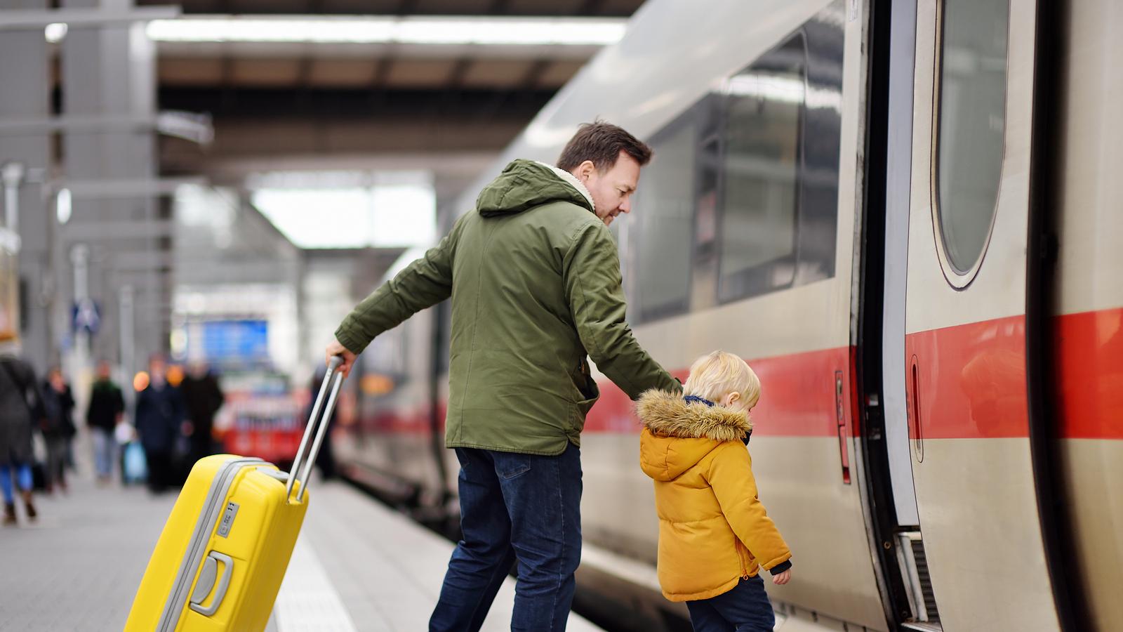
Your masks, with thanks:
[[[1123,439],[1123,308],[1060,316],[1053,320],[1057,410],[1065,439]],[[749,363],[763,395],[752,410],[754,434],[838,436],[836,371],[842,372],[848,432],[857,392],[852,347],[761,358]],[[913,356],[920,400],[913,399]],[[919,332],[905,336],[910,436],[916,437],[913,405],[919,404],[924,439],[1029,436],[1025,386],[1025,318]],[[685,370],[674,372],[686,378]],[[611,381],[601,380],[601,399],[588,414],[586,432],[638,433],[632,403]],[[442,403],[444,404],[444,403]],[[442,413],[442,412],[441,412]],[[366,422],[383,432],[428,432],[428,415],[385,412]]]

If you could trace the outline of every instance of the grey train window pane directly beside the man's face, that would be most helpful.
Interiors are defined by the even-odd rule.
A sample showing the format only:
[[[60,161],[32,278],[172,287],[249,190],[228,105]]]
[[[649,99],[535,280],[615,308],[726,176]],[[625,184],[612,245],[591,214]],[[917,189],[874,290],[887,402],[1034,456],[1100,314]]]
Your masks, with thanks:
[[[691,243],[694,236],[695,126],[683,118],[656,136],[634,207],[639,235],[632,258],[639,319],[685,312],[690,306]]]

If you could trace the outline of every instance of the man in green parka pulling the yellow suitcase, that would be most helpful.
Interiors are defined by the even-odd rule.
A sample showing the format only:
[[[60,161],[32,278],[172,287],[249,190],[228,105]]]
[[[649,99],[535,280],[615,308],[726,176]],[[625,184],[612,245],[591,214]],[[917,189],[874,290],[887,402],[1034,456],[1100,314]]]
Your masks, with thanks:
[[[355,308],[328,355],[453,298],[445,443],[460,461],[463,540],[429,629],[478,630],[514,560],[512,630],[565,630],[581,561],[581,431],[599,391],[586,355],[633,399],[681,387],[624,322],[608,225],[631,210],[651,150],[583,125],[558,166],[517,160],[437,247]]]

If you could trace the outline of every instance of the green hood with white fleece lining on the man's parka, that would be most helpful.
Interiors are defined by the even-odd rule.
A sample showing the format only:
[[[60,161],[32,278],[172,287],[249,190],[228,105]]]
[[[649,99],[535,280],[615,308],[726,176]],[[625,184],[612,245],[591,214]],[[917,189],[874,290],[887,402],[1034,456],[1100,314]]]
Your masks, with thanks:
[[[593,196],[572,173],[530,160],[515,160],[480,191],[476,211],[484,217],[513,215],[555,201],[593,210]]]

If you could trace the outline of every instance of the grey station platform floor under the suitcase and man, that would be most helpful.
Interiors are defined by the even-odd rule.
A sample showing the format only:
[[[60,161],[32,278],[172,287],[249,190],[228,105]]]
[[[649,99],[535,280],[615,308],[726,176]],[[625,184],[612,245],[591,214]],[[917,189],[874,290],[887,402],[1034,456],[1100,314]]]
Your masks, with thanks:
[[[343,482],[312,482],[270,632],[424,630],[453,543]],[[175,493],[99,487],[35,497],[39,517],[0,531],[0,631],[120,631]],[[484,623],[510,629],[508,578]],[[600,630],[570,614],[568,630]]]

